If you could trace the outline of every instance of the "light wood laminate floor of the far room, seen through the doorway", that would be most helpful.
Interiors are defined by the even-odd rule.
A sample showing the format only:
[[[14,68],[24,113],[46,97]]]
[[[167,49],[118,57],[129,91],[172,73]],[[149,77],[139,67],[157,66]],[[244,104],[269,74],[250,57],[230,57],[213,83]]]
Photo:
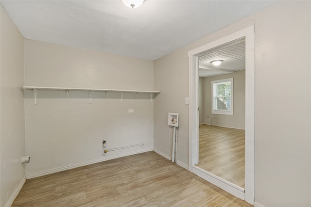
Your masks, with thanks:
[[[199,130],[197,166],[245,188],[245,130],[210,125]]]

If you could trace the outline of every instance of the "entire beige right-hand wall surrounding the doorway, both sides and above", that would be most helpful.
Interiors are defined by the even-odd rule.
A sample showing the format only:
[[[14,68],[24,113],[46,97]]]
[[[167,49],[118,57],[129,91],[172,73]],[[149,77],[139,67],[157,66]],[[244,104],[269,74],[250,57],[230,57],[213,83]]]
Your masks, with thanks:
[[[278,2],[156,60],[155,90],[161,94],[155,98],[155,148],[171,154],[165,120],[167,112],[179,112],[177,159],[188,163],[187,52],[255,25],[255,201],[265,207],[311,206],[310,4]],[[296,59],[306,61],[294,64]]]

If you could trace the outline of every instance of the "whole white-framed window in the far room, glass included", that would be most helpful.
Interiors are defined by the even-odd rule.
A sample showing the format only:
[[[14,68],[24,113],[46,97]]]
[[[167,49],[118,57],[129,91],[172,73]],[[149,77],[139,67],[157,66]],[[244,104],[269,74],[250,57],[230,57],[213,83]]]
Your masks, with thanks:
[[[233,78],[212,81],[212,113],[233,115]]]

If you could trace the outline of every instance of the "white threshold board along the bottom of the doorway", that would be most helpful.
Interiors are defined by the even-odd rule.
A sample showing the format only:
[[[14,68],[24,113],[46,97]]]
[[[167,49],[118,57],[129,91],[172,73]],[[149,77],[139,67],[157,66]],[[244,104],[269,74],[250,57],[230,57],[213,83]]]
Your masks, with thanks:
[[[230,194],[244,200],[245,193],[244,193],[243,188],[233,183],[230,183],[221,177],[213,175],[205,170],[202,170],[201,168],[198,168],[196,166],[192,166],[192,173],[194,173],[195,175],[198,175],[199,177],[202,177],[203,179],[207,180],[208,182],[210,182],[211,184],[215,186],[218,186],[224,191],[227,191]]]

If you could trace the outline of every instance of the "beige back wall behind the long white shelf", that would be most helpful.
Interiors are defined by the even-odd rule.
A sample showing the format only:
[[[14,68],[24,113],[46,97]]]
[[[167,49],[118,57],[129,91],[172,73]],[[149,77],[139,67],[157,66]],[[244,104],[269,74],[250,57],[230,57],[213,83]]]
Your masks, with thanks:
[[[153,62],[98,51],[25,40],[25,85],[153,90]],[[87,91],[25,92],[27,177],[52,173],[135,151],[153,150],[154,102],[149,94]],[[129,113],[134,109],[134,113]],[[102,155],[107,148],[141,146]]]

